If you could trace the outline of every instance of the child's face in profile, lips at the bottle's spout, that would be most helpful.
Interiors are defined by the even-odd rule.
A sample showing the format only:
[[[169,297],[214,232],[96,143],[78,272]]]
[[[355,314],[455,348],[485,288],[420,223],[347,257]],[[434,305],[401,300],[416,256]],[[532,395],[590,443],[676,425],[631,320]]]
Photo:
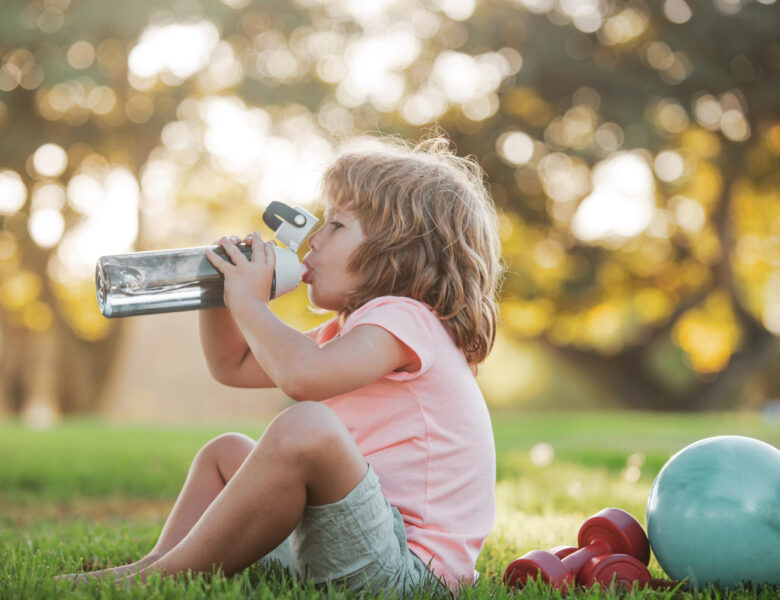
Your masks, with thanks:
[[[303,282],[309,285],[312,304],[334,311],[344,306],[346,292],[362,280],[347,272],[347,264],[364,239],[360,222],[351,212],[325,211],[325,223],[309,238],[311,251],[303,259],[309,267]]]

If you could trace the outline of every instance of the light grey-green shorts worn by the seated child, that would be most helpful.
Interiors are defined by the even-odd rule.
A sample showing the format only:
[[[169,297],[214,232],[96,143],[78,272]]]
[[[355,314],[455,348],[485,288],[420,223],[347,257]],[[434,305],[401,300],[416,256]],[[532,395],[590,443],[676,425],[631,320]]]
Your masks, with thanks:
[[[409,550],[401,513],[382,495],[371,465],[338,502],[306,506],[295,530],[258,564],[267,568],[274,561],[315,584],[331,581],[350,591],[425,591],[449,597],[447,588]]]

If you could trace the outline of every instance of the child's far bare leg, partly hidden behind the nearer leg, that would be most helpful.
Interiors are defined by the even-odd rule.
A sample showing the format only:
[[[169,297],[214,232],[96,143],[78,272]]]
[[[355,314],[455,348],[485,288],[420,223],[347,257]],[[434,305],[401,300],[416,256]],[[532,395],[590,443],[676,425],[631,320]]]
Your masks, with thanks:
[[[225,433],[207,442],[192,460],[187,479],[168,515],[160,538],[146,556],[120,567],[66,577],[69,579],[117,577],[141,569],[161,558],[192,529],[209,504],[233,477],[241,463],[249,456],[254,446],[255,441],[252,438],[240,433]]]

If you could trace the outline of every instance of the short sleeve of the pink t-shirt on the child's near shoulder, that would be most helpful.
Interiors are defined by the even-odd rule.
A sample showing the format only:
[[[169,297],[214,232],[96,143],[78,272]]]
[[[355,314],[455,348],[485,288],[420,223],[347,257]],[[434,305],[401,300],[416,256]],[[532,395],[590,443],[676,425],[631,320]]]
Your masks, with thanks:
[[[420,368],[412,372],[393,371],[385,375],[385,378],[408,381],[425,373],[433,364],[435,324],[436,315],[422,302],[411,298],[383,296],[367,302],[350,315],[341,335],[358,325],[378,325],[392,333],[417,355]]]

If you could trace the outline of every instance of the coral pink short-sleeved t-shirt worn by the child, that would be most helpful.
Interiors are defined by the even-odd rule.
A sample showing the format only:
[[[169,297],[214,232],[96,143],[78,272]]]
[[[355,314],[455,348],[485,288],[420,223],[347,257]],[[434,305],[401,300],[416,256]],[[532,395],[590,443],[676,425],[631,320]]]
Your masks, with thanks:
[[[347,426],[401,513],[409,549],[450,588],[473,583],[495,517],[495,445],[482,392],[436,312],[411,298],[374,298],[341,331],[334,318],[307,335],[322,346],[364,324],[409,346],[420,369],[390,372],[323,402]]]

